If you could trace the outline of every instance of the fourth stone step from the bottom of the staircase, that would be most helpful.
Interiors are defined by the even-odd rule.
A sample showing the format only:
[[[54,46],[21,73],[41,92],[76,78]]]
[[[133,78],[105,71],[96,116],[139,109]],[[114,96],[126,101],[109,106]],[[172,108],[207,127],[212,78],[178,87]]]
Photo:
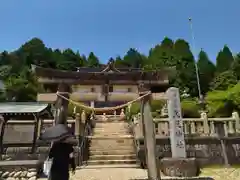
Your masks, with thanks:
[[[129,155],[134,154],[135,149],[105,149],[105,150],[98,150],[98,149],[90,149],[89,154],[91,155]]]

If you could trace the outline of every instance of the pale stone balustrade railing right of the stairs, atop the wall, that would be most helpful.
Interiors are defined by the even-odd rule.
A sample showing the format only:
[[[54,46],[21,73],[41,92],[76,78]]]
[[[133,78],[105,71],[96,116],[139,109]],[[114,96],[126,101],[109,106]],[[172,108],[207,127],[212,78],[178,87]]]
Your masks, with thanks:
[[[138,136],[143,136],[141,115],[136,116],[135,122],[138,124]],[[232,113],[232,117],[208,118],[206,113],[201,113],[200,118],[183,118],[184,134],[198,136],[229,136],[240,133],[240,120],[237,112]],[[169,136],[169,119],[155,118],[155,133],[157,136]]]

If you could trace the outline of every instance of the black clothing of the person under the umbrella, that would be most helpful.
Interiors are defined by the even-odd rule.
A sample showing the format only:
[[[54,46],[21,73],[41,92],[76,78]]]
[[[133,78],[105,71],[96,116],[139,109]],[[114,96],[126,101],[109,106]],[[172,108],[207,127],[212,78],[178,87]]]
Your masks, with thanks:
[[[54,143],[49,158],[53,159],[50,178],[51,180],[68,180],[69,179],[69,164],[75,170],[74,158],[70,158],[73,152],[71,144],[67,143]]]

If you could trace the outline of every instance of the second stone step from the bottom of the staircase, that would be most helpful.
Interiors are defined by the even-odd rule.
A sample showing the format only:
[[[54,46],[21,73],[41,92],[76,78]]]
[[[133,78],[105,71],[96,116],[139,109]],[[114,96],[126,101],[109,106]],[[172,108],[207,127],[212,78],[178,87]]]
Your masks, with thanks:
[[[88,165],[103,165],[103,164],[137,164],[135,159],[124,160],[89,160]]]

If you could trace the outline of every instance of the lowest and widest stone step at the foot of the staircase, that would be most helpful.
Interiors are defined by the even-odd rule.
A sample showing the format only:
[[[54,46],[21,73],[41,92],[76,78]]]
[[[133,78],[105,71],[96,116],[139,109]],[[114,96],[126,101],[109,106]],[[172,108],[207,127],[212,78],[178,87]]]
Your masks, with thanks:
[[[80,169],[104,169],[104,168],[141,168],[141,167],[138,164],[87,165],[80,167]]]

